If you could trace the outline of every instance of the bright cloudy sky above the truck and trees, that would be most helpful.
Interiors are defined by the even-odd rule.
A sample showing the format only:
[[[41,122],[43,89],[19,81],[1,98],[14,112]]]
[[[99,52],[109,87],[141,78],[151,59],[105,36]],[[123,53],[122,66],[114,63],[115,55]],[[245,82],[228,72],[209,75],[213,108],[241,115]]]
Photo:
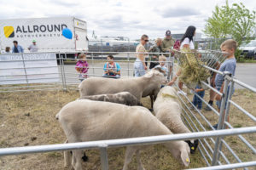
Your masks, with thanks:
[[[230,0],[256,10],[254,0]],[[166,30],[202,32],[215,6],[225,0],[0,0],[0,20],[74,16],[87,22],[88,37],[165,37]]]

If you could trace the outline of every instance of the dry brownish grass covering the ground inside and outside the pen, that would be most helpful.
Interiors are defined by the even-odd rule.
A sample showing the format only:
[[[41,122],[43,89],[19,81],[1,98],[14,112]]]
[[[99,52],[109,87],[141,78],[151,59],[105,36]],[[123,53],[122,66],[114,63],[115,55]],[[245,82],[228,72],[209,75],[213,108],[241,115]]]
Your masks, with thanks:
[[[59,122],[55,120],[55,114],[61,110],[63,105],[78,97],[78,91],[34,91],[0,94],[0,147],[63,143],[66,137]],[[189,98],[192,98],[192,95],[189,95]],[[247,108],[247,111],[256,116],[255,94],[238,90],[234,94],[233,99],[237,104]],[[149,98],[144,98],[142,102],[146,107],[150,107]],[[218,120],[218,117],[211,111],[203,114],[211,123]],[[200,118],[196,113],[195,116]],[[202,120],[201,122],[207,127],[205,122]],[[253,124],[250,119],[238,114],[237,109],[233,107],[230,110],[230,123],[234,127],[255,126],[255,123]],[[255,147],[255,134],[244,136]],[[248,150],[237,137],[226,137],[225,139],[232,149],[238,153],[242,161],[256,160],[251,150]],[[227,153],[225,148],[224,153]],[[101,169],[99,150],[88,150],[87,156],[89,156],[89,161],[84,163],[84,169]],[[124,157],[124,147],[108,149],[109,169],[121,169],[124,164]],[[195,155],[190,156],[190,158],[191,164],[189,168],[207,166],[199,151]],[[230,160],[235,162],[235,160],[232,160],[232,156],[230,156]],[[184,168],[160,144],[143,150],[142,161],[147,170]],[[63,169],[63,153],[47,152],[20,156],[3,156],[0,157],[0,167],[1,170]],[[135,157],[129,169],[137,169]]]

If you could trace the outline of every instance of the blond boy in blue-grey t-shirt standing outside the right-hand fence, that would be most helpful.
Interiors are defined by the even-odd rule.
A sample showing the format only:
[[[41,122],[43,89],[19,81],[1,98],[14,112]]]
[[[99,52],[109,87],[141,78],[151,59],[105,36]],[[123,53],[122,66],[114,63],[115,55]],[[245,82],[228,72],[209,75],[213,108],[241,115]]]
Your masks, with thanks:
[[[235,51],[237,48],[237,42],[235,40],[229,39],[224,41],[220,45],[221,51],[227,54],[227,59],[224,60],[224,63],[220,65],[218,71],[224,72],[224,71],[229,71],[232,77],[235,76],[235,71],[236,71],[236,58],[235,58]],[[220,93],[223,93],[224,90],[224,76],[217,74],[215,77],[215,86],[218,89]],[[233,92],[230,92],[230,87],[228,88],[228,94]],[[216,95],[215,99],[217,100],[216,105],[218,106],[218,112],[220,110],[220,104],[221,104],[221,96]],[[227,101],[225,101],[225,109],[227,105]],[[225,110],[224,110],[225,114]],[[229,122],[229,116],[227,117],[227,121]],[[215,129],[218,128],[218,124],[213,125]]]

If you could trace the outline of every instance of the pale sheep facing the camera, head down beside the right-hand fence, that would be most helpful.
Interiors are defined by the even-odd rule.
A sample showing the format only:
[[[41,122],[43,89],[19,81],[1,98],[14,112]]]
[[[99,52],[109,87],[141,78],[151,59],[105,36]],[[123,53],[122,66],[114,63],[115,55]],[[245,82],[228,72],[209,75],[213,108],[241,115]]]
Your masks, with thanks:
[[[182,106],[177,97],[177,91],[166,86],[161,88],[154,101],[154,115],[168,127],[172,133],[191,133],[181,119]],[[198,146],[198,139],[186,140],[193,154]]]

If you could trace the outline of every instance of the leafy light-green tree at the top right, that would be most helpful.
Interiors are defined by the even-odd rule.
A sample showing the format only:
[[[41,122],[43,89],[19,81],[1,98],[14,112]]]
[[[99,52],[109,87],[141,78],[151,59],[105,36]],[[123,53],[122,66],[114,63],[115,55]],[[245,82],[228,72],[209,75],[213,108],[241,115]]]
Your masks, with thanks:
[[[215,7],[212,17],[207,19],[205,26],[205,34],[215,40],[213,48],[219,48],[221,42],[228,37],[232,37],[241,45],[244,40],[254,37],[253,29],[255,29],[256,12],[250,12],[242,3],[233,3],[229,6],[228,0],[222,7]],[[236,57],[241,52],[237,50]]]

